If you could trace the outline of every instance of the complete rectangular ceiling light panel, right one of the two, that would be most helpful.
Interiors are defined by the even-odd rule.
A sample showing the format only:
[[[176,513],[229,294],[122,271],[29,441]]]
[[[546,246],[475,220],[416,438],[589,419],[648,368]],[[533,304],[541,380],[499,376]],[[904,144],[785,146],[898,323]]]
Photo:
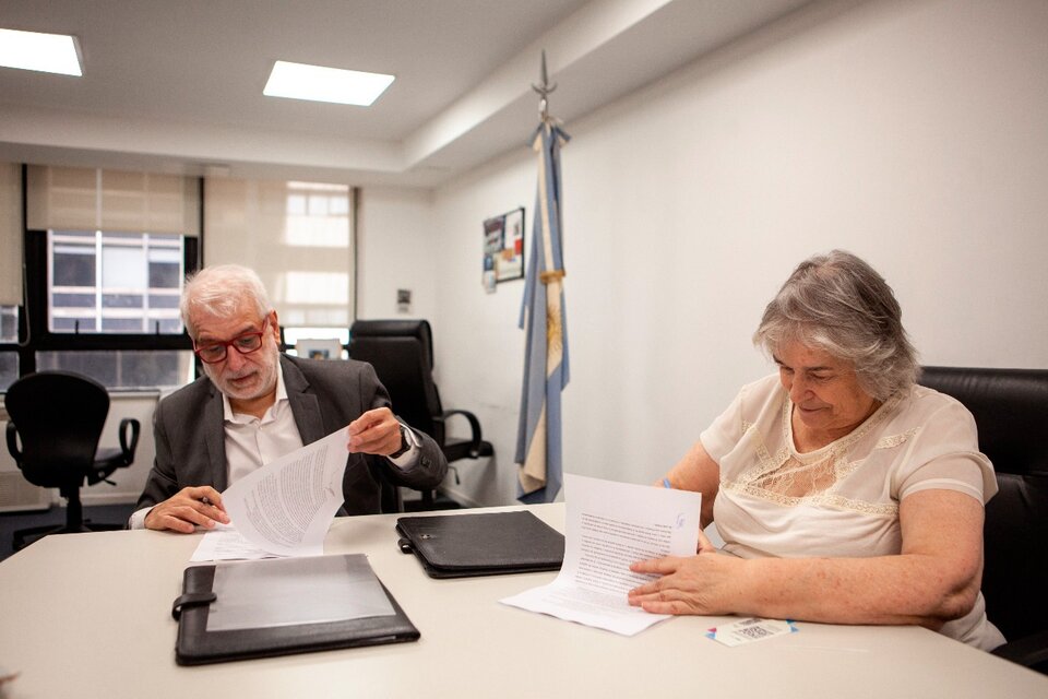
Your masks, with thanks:
[[[393,75],[381,73],[276,61],[262,94],[368,107],[392,82]]]

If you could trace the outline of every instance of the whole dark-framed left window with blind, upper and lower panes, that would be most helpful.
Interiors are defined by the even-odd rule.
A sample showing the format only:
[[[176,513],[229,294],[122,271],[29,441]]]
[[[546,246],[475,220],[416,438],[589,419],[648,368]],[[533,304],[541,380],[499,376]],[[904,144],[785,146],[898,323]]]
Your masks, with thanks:
[[[178,301],[195,266],[200,205],[193,177],[27,166],[24,303],[35,367],[21,372],[79,371],[121,390],[191,380]]]

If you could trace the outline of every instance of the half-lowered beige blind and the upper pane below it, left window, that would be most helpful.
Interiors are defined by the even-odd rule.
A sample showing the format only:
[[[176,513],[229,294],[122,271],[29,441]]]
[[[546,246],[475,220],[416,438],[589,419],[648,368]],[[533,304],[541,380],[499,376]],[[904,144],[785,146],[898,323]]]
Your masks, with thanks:
[[[32,166],[27,227],[47,236],[52,333],[179,334],[184,239],[200,232],[192,178]]]

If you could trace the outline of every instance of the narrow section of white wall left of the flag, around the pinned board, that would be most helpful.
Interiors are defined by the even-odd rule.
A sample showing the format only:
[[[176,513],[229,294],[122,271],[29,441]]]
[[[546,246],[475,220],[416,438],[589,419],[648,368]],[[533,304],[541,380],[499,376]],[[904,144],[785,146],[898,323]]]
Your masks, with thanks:
[[[526,134],[525,134],[526,138]],[[462,479],[449,476],[444,489],[472,505],[505,505],[515,497],[513,453],[520,415],[524,331],[517,328],[524,282],[498,284],[495,294],[481,285],[485,218],[525,208],[525,228],[534,213],[535,167],[526,154],[484,168],[466,182],[439,192],[441,244],[437,264],[438,315],[433,323],[436,380],[444,408],[472,411],[495,457],[452,464]],[[531,239],[525,234],[525,242]],[[525,248],[525,261],[528,250]],[[569,282],[573,269],[568,268]],[[569,286],[570,288],[570,286]],[[569,296],[569,332],[572,332]],[[569,337],[571,341],[573,336]],[[574,352],[574,345],[570,346]],[[461,423],[451,434],[467,437]]]

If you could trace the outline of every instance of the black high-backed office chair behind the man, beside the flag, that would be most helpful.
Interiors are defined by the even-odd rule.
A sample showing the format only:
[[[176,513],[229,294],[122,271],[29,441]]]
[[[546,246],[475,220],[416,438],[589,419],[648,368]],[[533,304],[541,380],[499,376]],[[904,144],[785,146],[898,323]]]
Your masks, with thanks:
[[[374,367],[390,392],[393,412],[412,427],[432,437],[458,482],[452,462],[490,457],[495,449],[484,441],[480,423],[469,411],[445,411],[433,383],[432,331],[426,320],[358,320],[349,330],[349,357]],[[455,415],[469,423],[469,439],[448,437],[446,420]],[[433,494],[422,491],[424,509],[434,506]],[[389,506],[383,506],[389,507]]]

